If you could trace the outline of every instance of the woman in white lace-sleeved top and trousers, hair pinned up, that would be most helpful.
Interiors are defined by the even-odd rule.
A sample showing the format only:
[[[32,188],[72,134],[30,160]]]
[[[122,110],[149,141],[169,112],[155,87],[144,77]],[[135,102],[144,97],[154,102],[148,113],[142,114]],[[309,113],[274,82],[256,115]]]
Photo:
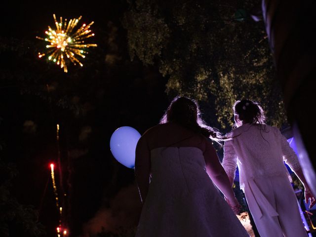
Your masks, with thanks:
[[[285,161],[302,181],[305,200],[315,204],[298,158],[276,127],[265,124],[261,106],[250,100],[234,105],[236,128],[225,142],[222,165],[240,189],[261,237],[307,237]]]

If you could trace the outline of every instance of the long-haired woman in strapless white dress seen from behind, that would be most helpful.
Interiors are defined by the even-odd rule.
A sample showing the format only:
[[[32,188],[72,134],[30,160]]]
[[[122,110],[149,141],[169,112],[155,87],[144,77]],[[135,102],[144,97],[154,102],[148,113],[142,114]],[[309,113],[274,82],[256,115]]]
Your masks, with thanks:
[[[208,137],[216,132],[203,124],[197,103],[176,97],[140,138],[135,175],[143,209],[136,237],[248,237]]]

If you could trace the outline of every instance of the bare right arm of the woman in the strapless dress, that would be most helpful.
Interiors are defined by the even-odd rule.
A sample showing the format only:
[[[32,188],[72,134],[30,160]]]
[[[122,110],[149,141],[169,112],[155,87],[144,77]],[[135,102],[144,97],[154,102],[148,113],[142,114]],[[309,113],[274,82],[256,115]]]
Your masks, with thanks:
[[[219,190],[229,200],[230,205],[239,205],[232,189],[230,180],[218,159],[216,151],[212,144],[208,141],[205,144],[204,159],[206,163],[207,174],[210,176]]]

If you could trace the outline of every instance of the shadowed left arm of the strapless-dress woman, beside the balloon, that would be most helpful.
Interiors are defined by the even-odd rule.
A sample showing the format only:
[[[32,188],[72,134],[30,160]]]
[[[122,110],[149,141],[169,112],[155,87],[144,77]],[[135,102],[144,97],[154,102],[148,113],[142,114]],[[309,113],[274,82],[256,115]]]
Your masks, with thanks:
[[[142,203],[145,202],[150,183],[150,150],[146,139],[142,136],[136,146],[135,176]]]

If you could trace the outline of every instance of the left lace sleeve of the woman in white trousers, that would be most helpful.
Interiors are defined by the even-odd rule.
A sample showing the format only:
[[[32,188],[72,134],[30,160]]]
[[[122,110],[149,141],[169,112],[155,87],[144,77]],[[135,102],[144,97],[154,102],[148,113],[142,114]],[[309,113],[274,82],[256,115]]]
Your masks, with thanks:
[[[235,178],[237,168],[237,155],[232,141],[226,141],[224,145],[224,158],[222,165],[230,178]]]

